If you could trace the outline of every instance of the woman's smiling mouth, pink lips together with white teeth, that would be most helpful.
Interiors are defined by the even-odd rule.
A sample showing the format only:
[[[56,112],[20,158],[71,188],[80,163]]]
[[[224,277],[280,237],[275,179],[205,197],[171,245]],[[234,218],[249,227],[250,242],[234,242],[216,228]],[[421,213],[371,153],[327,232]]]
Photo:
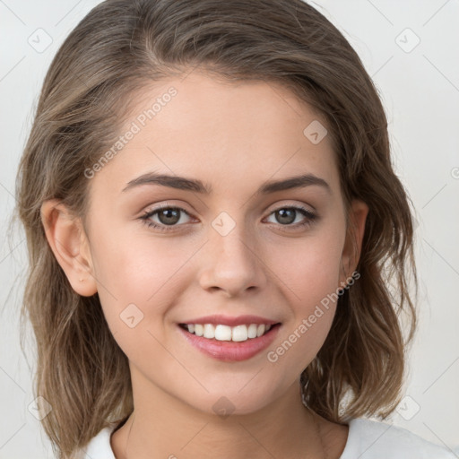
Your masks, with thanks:
[[[241,323],[241,319],[219,321],[207,317],[207,320],[178,324],[178,330],[198,351],[226,362],[255,357],[273,342],[281,327],[280,322],[260,318],[255,321],[246,319],[246,323]]]

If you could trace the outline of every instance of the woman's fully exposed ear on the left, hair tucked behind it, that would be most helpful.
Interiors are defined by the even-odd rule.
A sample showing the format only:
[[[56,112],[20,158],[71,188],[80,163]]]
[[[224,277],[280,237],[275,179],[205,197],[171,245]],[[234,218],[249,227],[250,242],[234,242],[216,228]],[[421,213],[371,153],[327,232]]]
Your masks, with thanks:
[[[94,295],[97,284],[92,275],[89,240],[81,219],[74,217],[59,200],[51,199],[41,205],[41,222],[49,247],[72,288],[83,297]]]

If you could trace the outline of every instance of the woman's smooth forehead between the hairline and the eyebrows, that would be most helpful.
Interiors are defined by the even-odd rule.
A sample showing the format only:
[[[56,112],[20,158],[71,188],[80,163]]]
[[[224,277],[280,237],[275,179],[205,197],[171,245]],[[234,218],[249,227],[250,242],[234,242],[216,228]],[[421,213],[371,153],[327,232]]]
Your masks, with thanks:
[[[94,193],[118,195],[151,171],[200,179],[215,194],[234,194],[235,186],[253,193],[262,182],[300,173],[337,186],[324,118],[279,83],[224,82],[194,71],[133,97],[116,154],[91,183]]]

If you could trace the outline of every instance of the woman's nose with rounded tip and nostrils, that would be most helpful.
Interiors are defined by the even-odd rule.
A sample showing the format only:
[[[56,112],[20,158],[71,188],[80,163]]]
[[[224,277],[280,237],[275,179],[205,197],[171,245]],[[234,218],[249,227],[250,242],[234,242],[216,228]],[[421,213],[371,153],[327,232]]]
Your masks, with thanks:
[[[266,285],[266,265],[255,237],[236,225],[229,234],[210,230],[205,247],[204,268],[199,282],[204,290],[221,290],[227,297],[236,297],[246,290],[260,290]]]

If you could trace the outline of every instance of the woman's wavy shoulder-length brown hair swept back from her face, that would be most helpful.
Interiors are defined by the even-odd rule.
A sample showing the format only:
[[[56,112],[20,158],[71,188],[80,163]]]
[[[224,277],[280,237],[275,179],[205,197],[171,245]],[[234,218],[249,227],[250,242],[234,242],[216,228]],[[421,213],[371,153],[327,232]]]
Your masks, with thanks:
[[[342,194],[368,204],[357,271],[330,333],[300,382],[327,420],[379,416],[400,400],[405,345],[415,329],[411,203],[391,163],[385,111],[359,56],[301,0],[108,0],[65,39],[49,67],[16,181],[30,267],[22,316],[38,347],[34,391],[53,410],[41,422],[69,458],[133,410],[126,355],[96,293],[71,287],[45,235],[40,206],[87,211],[83,171],[117,140],[131,95],[200,66],[215,78],[280,82],[326,120]],[[400,313],[409,317],[403,336]],[[343,403],[346,401],[346,403]]]

